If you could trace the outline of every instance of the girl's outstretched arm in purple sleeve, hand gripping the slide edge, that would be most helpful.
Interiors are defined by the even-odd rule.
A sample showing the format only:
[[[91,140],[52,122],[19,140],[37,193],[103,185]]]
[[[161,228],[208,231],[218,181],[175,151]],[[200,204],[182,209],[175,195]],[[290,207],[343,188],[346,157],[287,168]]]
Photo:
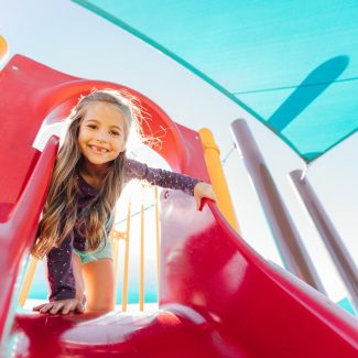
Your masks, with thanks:
[[[204,197],[216,202],[216,195],[210,184],[200,182],[188,175],[150,167],[134,160],[127,159],[124,164],[124,178],[127,181],[132,178],[145,180],[152,185],[183,191],[186,194],[195,196],[198,209]]]

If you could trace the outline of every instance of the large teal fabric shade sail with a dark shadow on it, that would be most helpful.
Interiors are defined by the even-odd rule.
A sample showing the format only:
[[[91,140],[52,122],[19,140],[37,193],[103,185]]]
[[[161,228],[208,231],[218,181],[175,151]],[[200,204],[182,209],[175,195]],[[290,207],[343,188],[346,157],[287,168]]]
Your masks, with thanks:
[[[358,2],[73,0],[246,108],[307,163],[358,130]]]

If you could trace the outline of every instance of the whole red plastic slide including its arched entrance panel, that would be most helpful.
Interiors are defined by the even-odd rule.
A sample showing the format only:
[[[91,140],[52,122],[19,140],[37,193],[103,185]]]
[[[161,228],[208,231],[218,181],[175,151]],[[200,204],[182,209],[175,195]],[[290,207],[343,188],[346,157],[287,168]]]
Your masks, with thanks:
[[[15,314],[17,278],[35,236],[57,149],[32,142],[45,120],[68,113],[93,87],[119,85],[67,76],[23,56],[0,74],[1,357],[357,357],[357,321],[321,293],[267,262],[217,207],[202,211],[175,191],[161,197],[160,310],[48,316]],[[173,170],[208,181],[197,133],[137,95],[165,128]]]

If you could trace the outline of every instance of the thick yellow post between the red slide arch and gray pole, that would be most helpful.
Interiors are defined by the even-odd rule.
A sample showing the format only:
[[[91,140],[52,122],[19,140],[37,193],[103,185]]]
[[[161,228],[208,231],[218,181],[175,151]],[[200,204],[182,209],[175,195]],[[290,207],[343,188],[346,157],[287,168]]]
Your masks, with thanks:
[[[209,129],[203,128],[198,131],[198,133],[204,148],[206,167],[209,173],[214,192],[217,196],[217,205],[231,227],[240,232],[220,161],[220,150],[215,143],[213,133]]]

